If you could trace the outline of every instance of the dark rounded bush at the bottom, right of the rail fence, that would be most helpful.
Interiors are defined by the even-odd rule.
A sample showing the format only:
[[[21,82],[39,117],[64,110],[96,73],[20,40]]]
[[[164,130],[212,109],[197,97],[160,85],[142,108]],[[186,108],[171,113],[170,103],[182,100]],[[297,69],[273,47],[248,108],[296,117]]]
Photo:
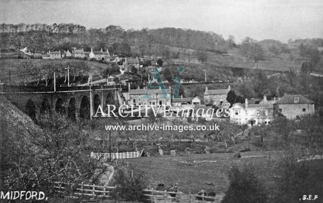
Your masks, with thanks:
[[[222,203],[267,201],[263,187],[251,166],[245,165],[241,170],[237,166],[233,166],[229,171],[229,181],[229,190]]]

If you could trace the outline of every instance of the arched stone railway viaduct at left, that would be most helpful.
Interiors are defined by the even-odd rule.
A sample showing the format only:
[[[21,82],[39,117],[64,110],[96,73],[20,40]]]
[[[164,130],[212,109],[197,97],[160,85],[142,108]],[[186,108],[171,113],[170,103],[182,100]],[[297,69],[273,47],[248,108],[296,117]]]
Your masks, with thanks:
[[[91,119],[99,105],[123,104],[121,86],[73,86],[73,87],[0,87],[0,94],[6,97],[30,117],[36,112],[59,112],[72,119]]]

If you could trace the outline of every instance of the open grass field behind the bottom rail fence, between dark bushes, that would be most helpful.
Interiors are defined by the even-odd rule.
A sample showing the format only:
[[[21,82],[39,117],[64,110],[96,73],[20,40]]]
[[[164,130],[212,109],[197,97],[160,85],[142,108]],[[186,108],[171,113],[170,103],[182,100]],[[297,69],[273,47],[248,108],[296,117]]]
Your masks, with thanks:
[[[273,181],[273,166],[279,152],[270,152],[269,158],[233,158],[234,153],[192,154],[172,157],[151,156],[127,159],[129,165],[151,175],[153,185],[162,182],[166,186],[178,183],[178,190],[184,193],[197,193],[199,190],[227,191],[228,170],[237,164],[252,164],[260,179],[270,186]],[[241,156],[269,155],[269,152],[242,152]],[[217,163],[193,163],[194,160],[228,160]],[[187,164],[179,161],[186,161]],[[214,186],[213,186],[213,185]]]

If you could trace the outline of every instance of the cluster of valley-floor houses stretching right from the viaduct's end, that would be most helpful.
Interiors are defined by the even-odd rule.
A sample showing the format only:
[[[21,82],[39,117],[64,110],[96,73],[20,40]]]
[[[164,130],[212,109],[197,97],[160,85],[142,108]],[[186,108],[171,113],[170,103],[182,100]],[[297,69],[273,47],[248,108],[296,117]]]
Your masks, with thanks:
[[[212,104],[219,108],[229,108],[230,103],[227,101],[227,95],[230,91],[227,89],[209,90],[206,87],[204,93],[204,103]],[[174,109],[190,110],[204,108],[206,111],[211,106],[201,105],[199,97],[189,98],[171,98],[171,89],[166,89],[169,98],[160,98],[163,93],[160,89],[149,90],[150,98],[142,98],[146,94],[146,89],[134,89],[129,91],[129,104],[134,106],[140,105],[172,105]],[[245,100],[244,104],[236,103],[230,109],[230,121],[235,124],[248,126],[269,125],[275,116],[285,116],[288,119],[299,119],[301,116],[312,115],[315,113],[314,102],[302,95],[285,95],[279,99],[268,100],[264,95],[263,100]]]

